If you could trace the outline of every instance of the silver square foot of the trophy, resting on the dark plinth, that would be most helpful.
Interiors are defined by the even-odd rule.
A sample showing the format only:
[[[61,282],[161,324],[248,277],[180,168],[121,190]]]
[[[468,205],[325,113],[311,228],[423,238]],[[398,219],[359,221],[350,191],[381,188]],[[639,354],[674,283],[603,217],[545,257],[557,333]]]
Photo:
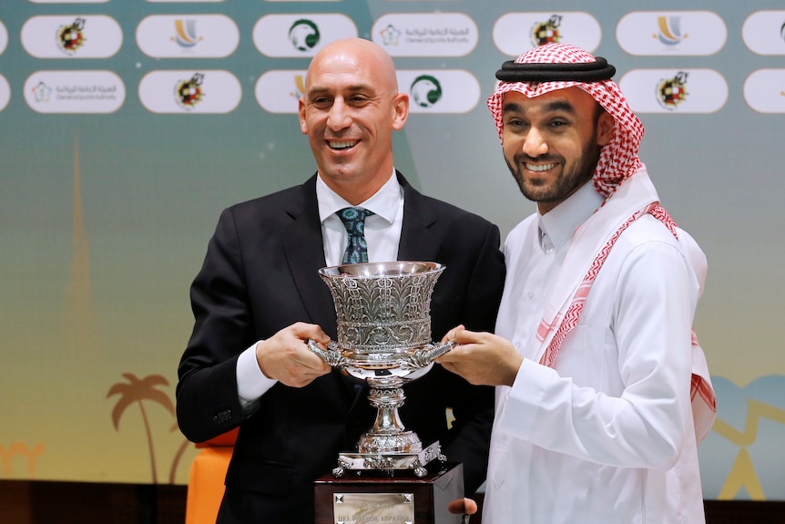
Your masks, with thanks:
[[[350,470],[358,474],[362,471],[386,471],[391,476],[396,471],[412,471],[416,477],[425,477],[428,474],[426,466],[435,459],[442,463],[447,460],[438,442],[417,453],[340,453],[338,467],[332,470],[332,476],[342,478]]]

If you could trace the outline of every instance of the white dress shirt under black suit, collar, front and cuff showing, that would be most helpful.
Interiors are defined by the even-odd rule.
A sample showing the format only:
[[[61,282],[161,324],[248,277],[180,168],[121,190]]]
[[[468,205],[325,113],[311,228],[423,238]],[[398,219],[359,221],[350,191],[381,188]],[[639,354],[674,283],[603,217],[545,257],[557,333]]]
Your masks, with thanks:
[[[346,249],[348,233],[336,211],[351,207],[348,201],[327,187],[321,175],[316,178],[316,199],[319,203],[321,238],[324,241],[324,260],[328,266],[339,265]],[[395,171],[390,180],[373,196],[358,204],[374,214],[365,219],[365,240],[368,242],[368,260],[387,262],[398,259],[398,243],[403,227],[403,187]],[[240,354],[237,361],[237,388],[240,404],[246,409],[278,381],[265,376],[256,361],[256,344]]]

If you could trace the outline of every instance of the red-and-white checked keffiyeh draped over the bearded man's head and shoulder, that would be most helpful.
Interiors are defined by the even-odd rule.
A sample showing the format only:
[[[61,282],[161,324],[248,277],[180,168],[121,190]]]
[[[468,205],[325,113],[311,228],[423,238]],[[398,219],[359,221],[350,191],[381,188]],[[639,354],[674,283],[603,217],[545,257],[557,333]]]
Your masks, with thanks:
[[[596,58],[594,56],[579,47],[566,44],[546,44],[545,46],[534,47],[526,51],[515,59],[515,64],[588,64],[595,61]],[[528,98],[535,98],[557,89],[566,89],[567,87],[579,87],[586,91],[616,121],[613,137],[602,148],[592,177],[595,189],[606,197],[607,203],[613,199],[613,195],[625,180],[632,177],[638,170],[643,170],[643,164],[637,154],[641,139],[643,139],[643,124],[632,112],[632,109],[629,108],[627,98],[625,98],[616,82],[611,79],[596,82],[575,80],[502,81],[488,98],[487,105],[494,117],[499,139],[504,141],[502,114],[505,93],[517,91]],[[611,231],[611,234],[604,238],[602,242],[597,243],[596,257],[589,265],[583,280],[570,288],[569,293],[551,297],[546,310],[552,314],[545,313],[537,330],[537,339],[541,343],[547,344],[540,364],[548,365],[549,367],[555,365],[556,356],[562,342],[564,342],[566,335],[577,325],[578,318],[586,302],[586,296],[591,289],[592,283],[594,283],[597,273],[606,261],[614,242],[627,229],[629,224],[644,214],[651,214],[659,221],[662,221],[678,239],[679,230],[676,223],[668,215],[668,211],[665,211],[659,205],[657,200],[641,202],[641,206],[637,210],[627,213],[614,226],[614,231]],[[691,396],[696,437],[700,441],[709,433],[716,416],[717,406],[705,356],[698,344],[698,338],[694,330],[692,333],[692,344],[693,377]]]

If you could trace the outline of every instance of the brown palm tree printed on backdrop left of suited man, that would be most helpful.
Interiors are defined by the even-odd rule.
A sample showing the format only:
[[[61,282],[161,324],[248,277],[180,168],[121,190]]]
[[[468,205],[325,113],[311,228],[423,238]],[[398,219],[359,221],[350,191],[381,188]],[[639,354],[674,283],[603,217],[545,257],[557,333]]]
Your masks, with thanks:
[[[157,402],[160,406],[164,406],[167,411],[175,415],[175,406],[169,396],[156,389],[158,385],[169,385],[168,380],[163,375],[148,375],[139,379],[137,375],[132,373],[124,373],[127,383],[118,382],[109,389],[107,398],[113,395],[119,395],[115,408],[112,409],[112,422],[115,424],[115,429],[119,431],[120,417],[126,412],[126,408],[136,403],[142,412],[142,420],[145,423],[145,431],[148,435],[148,448],[150,450],[150,466],[153,472],[153,484],[158,484],[158,472],[156,470],[156,455],[153,448],[153,434],[150,430],[148,421],[148,414],[145,411],[145,404],[143,400]],[[179,458],[179,457],[178,457]]]

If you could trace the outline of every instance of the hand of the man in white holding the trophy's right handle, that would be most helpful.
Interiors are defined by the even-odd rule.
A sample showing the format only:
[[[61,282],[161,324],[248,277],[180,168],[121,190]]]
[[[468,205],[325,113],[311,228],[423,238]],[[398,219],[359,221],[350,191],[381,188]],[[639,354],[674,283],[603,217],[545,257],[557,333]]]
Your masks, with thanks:
[[[459,325],[444,335],[454,341],[453,349],[436,359],[447,371],[463,376],[474,385],[513,385],[524,361],[507,339],[468,331]]]

